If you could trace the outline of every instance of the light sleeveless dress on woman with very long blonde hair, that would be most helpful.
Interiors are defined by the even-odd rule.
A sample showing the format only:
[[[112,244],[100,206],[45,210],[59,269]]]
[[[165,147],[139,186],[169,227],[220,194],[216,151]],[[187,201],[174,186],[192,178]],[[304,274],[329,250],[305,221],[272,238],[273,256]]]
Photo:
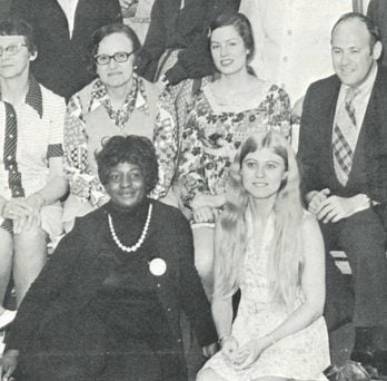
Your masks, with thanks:
[[[259,250],[255,247],[251,217],[248,222],[248,245],[240,284],[241,300],[232,324],[232,335],[239,345],[260,338],[281,324],[302,303],[302,293],[291,310],[272,303],[272,287],[267,276],[269,243],[274,234],[274,217],[269,218]],[[218,352],[206,364],[225,380],[250,381],[260,377],[295,380],[326,380],[322,371],[329,365],[328,333],[324,318],[265,350],[248,369],[237,370]]]

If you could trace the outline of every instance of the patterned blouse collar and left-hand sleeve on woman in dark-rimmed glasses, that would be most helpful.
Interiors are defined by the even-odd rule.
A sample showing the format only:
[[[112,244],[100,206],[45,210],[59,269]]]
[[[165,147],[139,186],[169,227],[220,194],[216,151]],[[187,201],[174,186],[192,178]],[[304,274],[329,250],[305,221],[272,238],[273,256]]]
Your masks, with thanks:
[[[133,75],[132,88],[118,110],[111,108],[111,100],[100,79],[92,84],[91,91],[86,97],[86,100],[81,99],[81,92],[78,92],[68,104],[64,120],[64,170],[71,194],[82,198],[85,203],[90,201],[92,205],[97,205],[107,201],[108,196],[89,165],[86,116],[102,106],[110,120],[122,129],[129,123],[135,109],[147,115],[149,107],[143,80],[136,75]]]

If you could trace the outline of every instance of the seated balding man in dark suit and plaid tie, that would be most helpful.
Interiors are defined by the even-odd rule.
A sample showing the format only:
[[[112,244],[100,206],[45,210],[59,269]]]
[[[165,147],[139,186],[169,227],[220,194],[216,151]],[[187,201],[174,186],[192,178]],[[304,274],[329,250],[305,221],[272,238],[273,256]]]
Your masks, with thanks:
[[[367,17],[347,13],[337,21],[331,32],[336,75],[309,87],[299,140],[308,209],[320,222],[327,253],[344,250],[353,270],[351,358],[363,363],[380,359],[387,348],[387,71],[377,63],[381,49]],[[328,254],[328,311],[344,292],[337,275]]]

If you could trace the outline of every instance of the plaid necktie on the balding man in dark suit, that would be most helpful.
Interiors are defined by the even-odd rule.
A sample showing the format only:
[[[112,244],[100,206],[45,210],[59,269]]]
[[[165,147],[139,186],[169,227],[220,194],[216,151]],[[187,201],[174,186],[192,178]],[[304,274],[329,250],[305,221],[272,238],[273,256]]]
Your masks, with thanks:
[[[331,141],[336,176],[344,186],[348,182],[353,167],[357,140],[356,116],[353,105],[356,95],[354,89],[347,89],[345,101],[339,106],[340,108],[336,116]]]

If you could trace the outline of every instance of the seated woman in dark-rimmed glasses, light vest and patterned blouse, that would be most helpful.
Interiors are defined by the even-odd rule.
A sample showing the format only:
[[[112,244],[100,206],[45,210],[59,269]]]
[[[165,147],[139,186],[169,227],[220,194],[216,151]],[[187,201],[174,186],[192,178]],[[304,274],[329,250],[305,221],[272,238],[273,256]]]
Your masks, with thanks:
[[[66,231],[72,228],[77,216],[108,201],[93,157],[101,139],[153,135],[158,90],[133,74],[139,49],[136,33],[125,25],[102,27],[91,37],[91,65],[98,78],[70,99],[66,116],[66,172],[70,183],[63,212]]]

